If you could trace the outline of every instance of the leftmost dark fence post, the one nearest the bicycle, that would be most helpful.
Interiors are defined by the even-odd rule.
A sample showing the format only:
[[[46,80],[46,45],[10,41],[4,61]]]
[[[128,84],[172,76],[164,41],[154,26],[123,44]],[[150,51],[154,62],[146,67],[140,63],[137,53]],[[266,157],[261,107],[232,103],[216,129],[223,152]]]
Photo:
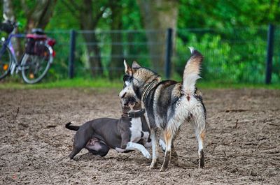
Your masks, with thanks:
[[[71,31],[70,31],[69,64],[68,64],[68,76],[69,76],[69,78],[74,77],[75,47],[76,47],[76,31],[71,29]]]

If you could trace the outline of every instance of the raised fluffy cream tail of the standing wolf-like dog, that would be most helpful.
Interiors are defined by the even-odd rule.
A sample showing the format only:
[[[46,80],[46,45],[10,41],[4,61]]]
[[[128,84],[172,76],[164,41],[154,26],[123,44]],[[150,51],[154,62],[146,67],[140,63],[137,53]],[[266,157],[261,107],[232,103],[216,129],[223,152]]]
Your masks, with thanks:
[[[190,59],[185,66],[183,72],[183,86],[182,91],[184,94],[195,93],[195,83],[200,79],[200,70],[202,66],[203,56],[200,52],[195,50],[193,47],[190,48]]]

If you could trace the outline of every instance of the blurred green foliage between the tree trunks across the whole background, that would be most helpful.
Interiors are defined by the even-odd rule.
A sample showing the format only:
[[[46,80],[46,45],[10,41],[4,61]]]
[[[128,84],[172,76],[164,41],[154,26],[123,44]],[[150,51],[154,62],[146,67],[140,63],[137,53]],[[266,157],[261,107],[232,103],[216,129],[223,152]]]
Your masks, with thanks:
[[[32,8],[38,1],[26,1]],[[80,29],[78,13],[83,13],[82,0],[74,1],[80,8],[69,10],[67,0],[57,1],[52,18],[46,27],[48,36],[55,38],[57,56],[48,73],[48,80],[62,80],[67,77],[69,61],[70,29]],[[93,1],[92,9],[95,15],[104,10],[97,20],[97,40],[102,55],[104,76],[109,76],[111,62],[111,29],[112,6],[118,3],[122,8],[120,13],[121,27],[124,31],[118,36],[122,38],[123,57],[129,63],[136,60],[143,66],[153,66],[148,56],[146,33],[143,31],[143,19],[140,15],[137,1]],[[216,82],[255,82],[262,83],[265,79],[265,60],[267,50],[267,25],[280,24],[280,0],[179,0],[178,31],[176,32],[176,47],[172,59],[174,77],[181,79],[186,59],[189,57],[187,46],[193,46],[205,56],[202,77],[207,81]],[[27,19],[20,0],[13,1],[17,20],[24,26]],[[0,13],[3,13],[3,3],[0,3]],[[188,29],[187,29],[188,28]],[[195,28],[195,29],[193,29]],[[198,29],[197,29],[198,28]],[[211,29],[209,29],[211,28]],[[1,33],[1,36],[6,36]],[[88,78],[91,76],[87,40],[77,35],[75,75]],[[130,44],[132,43],[132,44]],[[274,40],[274,61],[272,82],[280,82],[280,27],[276,27]],[[123,69],[120,69],[123,70]]]

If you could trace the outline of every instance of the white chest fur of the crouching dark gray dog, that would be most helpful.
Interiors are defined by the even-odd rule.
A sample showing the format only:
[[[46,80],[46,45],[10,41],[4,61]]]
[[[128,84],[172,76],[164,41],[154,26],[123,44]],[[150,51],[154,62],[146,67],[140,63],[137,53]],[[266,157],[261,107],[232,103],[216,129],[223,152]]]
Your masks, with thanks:
[[[131,127],[130,127],[130,131],[131,131],[131,138],[130,141],[131,142],[139,142],[139,140],[141,140],[141,132],[142,132],[142,122],[141,122],[141,118],[137,117],[137,118],[132,118],[131,121]],[[144,138],[145,136],[148,134],[146,132],[144,133]]]

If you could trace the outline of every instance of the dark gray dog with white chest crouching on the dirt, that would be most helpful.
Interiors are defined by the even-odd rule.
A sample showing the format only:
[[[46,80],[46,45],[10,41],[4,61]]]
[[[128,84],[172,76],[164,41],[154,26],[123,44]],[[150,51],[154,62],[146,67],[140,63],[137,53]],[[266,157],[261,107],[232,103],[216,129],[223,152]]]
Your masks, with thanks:
[[[83,148],[99,156],[106,156],[109,149],[119,152],[138,149],[144,157],[151,158],[145,148],[151,147],[151,139],[141,101],[133,97],[123,98],[121,104],[123,114],[120,119],[99,118],[87,121],[82,126],[72,126],[71,122],[65,125],[77,131],[69,155],[71,159]]]

